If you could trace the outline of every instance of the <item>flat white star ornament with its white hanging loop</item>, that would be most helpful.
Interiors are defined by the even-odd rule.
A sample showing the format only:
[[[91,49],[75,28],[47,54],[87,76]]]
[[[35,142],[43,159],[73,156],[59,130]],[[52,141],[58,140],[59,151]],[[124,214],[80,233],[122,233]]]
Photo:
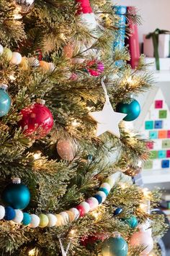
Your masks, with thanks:
[[[125,118],[126,114],[118,114],[113,110],[112,105],[109,102],[109,96],[107,95],[104,80],[102,80],[102,87],[104,89],[104,95],[106,98],[104,107],[102,111],[90,112],[89,116],[97,121],[97,137],[102,135],[104,132],[109,132],[116,137],[120,137],[120,129],[118,125],[120,121]]]

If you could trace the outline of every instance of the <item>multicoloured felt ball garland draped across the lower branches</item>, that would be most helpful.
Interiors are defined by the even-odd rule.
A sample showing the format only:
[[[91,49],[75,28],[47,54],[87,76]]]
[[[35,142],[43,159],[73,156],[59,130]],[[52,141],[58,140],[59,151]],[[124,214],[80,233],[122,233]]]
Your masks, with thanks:
[[[108,182],[108,183],[107,183]],[[81,202],[76,208],[63,211],[59,214],[36,214],[22,213],[22,210],[14,210],[12,207],[0,205],[0,220],[13,221],[14,223],[22,223],[23,226],[30,226],[30,228],[45,228],[53,226],[64,226],[69,222],[73,222],[86,213],[95,210],[104,200],[106,200],[109,191],[115,185],[114,174],[104,180],[104,183],[99,187],[99,191],[94,197],[90,197],[84,202]]]

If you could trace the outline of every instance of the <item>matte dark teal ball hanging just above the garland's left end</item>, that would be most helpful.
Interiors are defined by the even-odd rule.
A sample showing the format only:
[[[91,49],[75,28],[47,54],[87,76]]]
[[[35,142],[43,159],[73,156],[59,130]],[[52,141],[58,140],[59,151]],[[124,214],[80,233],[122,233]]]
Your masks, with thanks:
[[[14,209],[24,209],[30,202],[30,191],[19,178],[16,178],[6,186],[1,198],[6,205],[10,205]]]

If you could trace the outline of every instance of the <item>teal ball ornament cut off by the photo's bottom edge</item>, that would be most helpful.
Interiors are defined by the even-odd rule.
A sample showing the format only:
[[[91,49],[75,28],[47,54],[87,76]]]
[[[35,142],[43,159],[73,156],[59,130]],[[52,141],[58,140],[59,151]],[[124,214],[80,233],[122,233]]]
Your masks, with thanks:
[[[109,237],[102,244],[102,256],[126,256],[128,244],[122,236]]]

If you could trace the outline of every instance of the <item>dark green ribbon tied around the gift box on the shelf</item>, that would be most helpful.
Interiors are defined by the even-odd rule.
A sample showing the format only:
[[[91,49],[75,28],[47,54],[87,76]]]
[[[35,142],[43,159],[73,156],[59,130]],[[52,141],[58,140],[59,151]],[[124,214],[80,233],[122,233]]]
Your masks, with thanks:
[[[158,35],[160,34],[170,34],[169,30],[160,30],[159,28],[156,28],[153,33],[149,33],[146,35],[146,39],[152,38],[153,40],[153,48],[154,48],[154,57],[156,59],[156,69],[160,70],[160,63],[159,63],[159,54],[158,54]]]

